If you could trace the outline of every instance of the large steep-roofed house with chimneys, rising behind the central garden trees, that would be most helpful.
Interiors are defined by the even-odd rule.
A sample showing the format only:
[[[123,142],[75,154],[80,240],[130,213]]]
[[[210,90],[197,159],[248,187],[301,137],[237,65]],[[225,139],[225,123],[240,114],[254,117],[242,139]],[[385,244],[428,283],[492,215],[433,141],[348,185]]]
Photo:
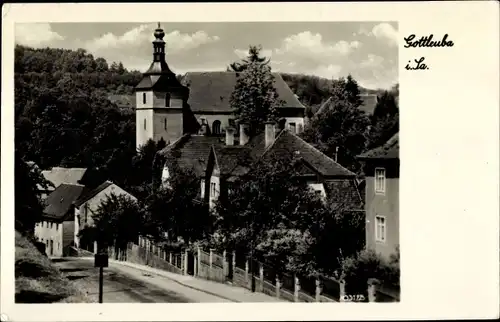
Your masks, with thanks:
[[[298,157],[300,176],[309,187],[339,209],[363,210],[356,175],[286,129],[285,124],[276,127],[268,122],[264,133],[251,139],[240,131],[238,141],[235,145],[234,131],[229,129],[225,145],[211,147],[205,177],[201,179],[201,196],[210,207],[222,194],[227,195],[232,182],[247,174],[255,162],[272,156],[285,161]]]

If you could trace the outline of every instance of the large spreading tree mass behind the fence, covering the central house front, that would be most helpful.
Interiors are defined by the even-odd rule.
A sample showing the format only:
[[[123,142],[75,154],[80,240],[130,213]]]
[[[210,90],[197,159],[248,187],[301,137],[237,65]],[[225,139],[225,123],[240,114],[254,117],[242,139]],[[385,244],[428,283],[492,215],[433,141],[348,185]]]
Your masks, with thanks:
[[[227,197],[221,194],[214,211],[214,246],[304,275],[324,270],[327,258],[336,260],[345,244],[328,236],[332,231],[340,236],[347,220],[309,188],[299,175],[301,164],[297,157],[270,156],[231,185]]]

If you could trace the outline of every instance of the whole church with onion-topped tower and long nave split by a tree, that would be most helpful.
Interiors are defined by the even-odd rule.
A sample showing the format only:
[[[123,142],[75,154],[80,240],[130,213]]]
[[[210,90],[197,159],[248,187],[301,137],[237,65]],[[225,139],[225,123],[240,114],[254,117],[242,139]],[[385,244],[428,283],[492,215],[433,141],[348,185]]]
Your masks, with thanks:
[[[153,62],[135,88],[137,147],[149,139],[163,138],[170,144],[186,134],[194,136],[202,125],[210,135],[223,137],[228,126],[235,126],[230,98],[238,73],[190,72],[179,80],[165,60],[164,36],[158,26],[154,32]],[[305,107],[281,76],[273,75],[274,86],[284,101],[278,109],[280,117],[286,120],[287,127],[299,133],[304,127]]]

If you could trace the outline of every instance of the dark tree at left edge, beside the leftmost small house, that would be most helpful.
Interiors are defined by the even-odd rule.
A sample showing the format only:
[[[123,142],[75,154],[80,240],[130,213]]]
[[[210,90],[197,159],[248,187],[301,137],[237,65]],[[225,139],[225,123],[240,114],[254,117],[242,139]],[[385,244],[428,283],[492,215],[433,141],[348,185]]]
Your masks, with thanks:
[[[44,210],[40,189],[46,190],[53,185],[35,164],[25,162],[17,151],[14,180],[15,228],[23,234],[33,235],[35,224],[41,220]]]

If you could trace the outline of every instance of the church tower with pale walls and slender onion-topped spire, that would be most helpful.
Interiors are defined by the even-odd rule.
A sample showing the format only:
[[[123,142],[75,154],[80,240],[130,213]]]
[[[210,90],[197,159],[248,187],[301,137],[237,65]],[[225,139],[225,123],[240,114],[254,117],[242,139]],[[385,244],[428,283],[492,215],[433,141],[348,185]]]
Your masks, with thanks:
[[[167,144],[172,143],[187,130],[184,114],[189,109],[189,89],[182,86],[165,61],[165,32],[160,23],[153,35],[153,62],[135,88],[137,148],[149,139],[163,138]]]

